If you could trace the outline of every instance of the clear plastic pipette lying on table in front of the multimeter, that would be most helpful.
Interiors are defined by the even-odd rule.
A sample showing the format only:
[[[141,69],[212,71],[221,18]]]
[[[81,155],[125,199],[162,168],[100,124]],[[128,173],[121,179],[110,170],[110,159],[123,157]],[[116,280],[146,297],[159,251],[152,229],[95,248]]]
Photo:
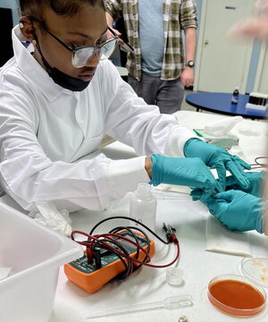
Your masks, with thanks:
[[[104,317],[112,317],[114,315],[121,315],[121,314],[129,314],[129,313],[136,313],[140,311],[147,311],[151,309],[180,309],[185,308],[188,306],[193,305],[193,299],[189,294],[183,294],[178,296],[170,296],[164,299],[163,301],[155,301],[150,303],[140,303],[140,304],[133,304],[130,306],[125,306],[121,308],[115,309],[107,309],[105,311],[92,314],[87,317],[90,318],[104,318]]]

